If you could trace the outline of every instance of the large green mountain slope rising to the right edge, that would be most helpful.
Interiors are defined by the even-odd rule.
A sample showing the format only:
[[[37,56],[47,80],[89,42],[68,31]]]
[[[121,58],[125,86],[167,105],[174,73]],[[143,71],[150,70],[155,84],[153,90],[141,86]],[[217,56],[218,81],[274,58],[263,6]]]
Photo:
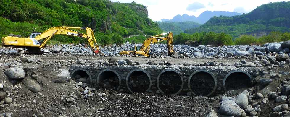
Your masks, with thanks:
[[[264,4],[248,14],[240,16],[212,17],[198,28],[185,30],[185,33],[224,32],[238,37],[242,34],[266,35],[271,31],[290,31],[290,2]]]

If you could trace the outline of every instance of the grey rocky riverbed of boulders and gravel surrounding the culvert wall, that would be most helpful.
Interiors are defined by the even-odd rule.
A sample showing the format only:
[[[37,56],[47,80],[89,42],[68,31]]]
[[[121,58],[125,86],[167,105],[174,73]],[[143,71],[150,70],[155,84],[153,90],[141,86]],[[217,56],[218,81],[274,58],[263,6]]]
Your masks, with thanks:
[[[51,55],[19,55],[14,48],[0,47],[0,116],[290,116],[290,41],[259,46],[175,45],[179,56],[171,57],[165,44],[152,44],[152,58],[118,55],[133,45],[105,46],[100,48],[102,55],[94,55],[80,44],[47,47]],[[252,85],[229,89],[214,97],[93,88],[89,87],[87,76],[72,79],[69,72],[72,65],[139,64],[255,67],[257,70],[250,73],[256,76],[251,79]],[[132,84],[132,87],[137,86]]]

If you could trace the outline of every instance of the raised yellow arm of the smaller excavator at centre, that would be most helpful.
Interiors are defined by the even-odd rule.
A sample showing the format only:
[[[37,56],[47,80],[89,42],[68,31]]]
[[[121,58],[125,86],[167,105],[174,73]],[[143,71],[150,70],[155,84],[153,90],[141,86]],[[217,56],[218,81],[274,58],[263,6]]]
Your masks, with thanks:
[[[168,36],[166,37],[160,37],[162,35],[166,35],[168,34]],[[171,32],[168,32],[168,33],[163,33],[163,34],[160,34],[160,35],[156,35],[156,36],[153,36],[153,37],[150,37],[150,38],[147,38],[143,45],[141,46],[140,48],[140,51],[136,51],[136,54],[143,54],[144,53],[144,56],[149,56],[148,53],[149,53],[149,49],[150,49],[150,45],[152,43],[156,43],[156,42],[161,42],[161,41],[167,41],[167,51],[168,51],[168,55],[172,55],[172,54],[175,54],[174,50],[173,50],[173,33]]]

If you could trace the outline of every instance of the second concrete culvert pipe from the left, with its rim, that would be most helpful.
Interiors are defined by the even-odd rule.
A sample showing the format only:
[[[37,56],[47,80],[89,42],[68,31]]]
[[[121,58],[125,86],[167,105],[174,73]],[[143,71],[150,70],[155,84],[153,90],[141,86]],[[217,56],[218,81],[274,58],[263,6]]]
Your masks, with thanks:
[[[104,88],[111,88],[114,90],[119,90],[120,88],[120,76],[116,71],[113,70],[103,70],[99,73],[98,78],[97,78],[97,84],[100,87]]]

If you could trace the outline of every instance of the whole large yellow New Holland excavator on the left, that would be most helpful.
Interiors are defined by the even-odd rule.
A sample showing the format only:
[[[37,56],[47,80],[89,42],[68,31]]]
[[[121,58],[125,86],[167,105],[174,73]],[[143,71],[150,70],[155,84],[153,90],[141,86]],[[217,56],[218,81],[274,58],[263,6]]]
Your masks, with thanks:
[[[74,31],[72,29],[86,30],[86,34]],[[33,36],[31,36],[33,35]],[[86,38],[94,53],[99,53],[99,46],[96,44],[96,38],[91,28],[81,27],[52,27],[42,33],[32,33],[30,38],[22,38],[20,35],[10,35],[2,37],[2,46],[4,47],[18,47],[18,53],[33,53],[33,54],[49,54],[49,50],[44,49],[46,42],[53,35],[71,35]],[[35,38],[33,38],[35,37]],[[39,41],[43,39],[43,42]],[[25,49],[27,48],[27,50]]]

